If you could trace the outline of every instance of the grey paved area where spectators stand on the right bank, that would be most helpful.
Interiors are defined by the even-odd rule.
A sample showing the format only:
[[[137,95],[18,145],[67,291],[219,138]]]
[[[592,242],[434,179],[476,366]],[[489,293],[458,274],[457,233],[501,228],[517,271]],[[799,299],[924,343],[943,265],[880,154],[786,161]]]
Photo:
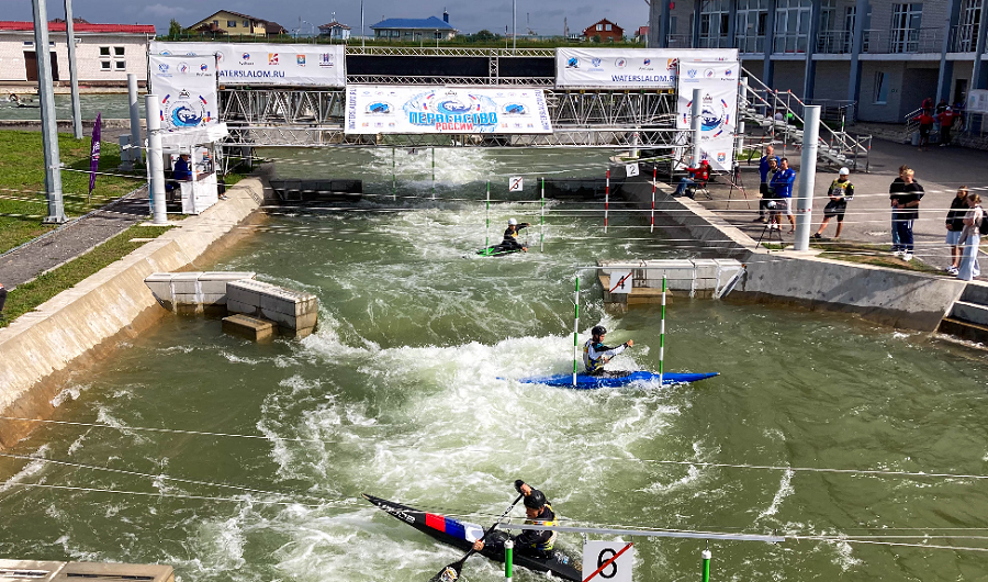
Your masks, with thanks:
[[[777,149],[776,155],[782,155],[782,150]],[[790,146],[787,155],[790,165],[798,172],[800,152],[794,150]],[[916,256],[931,266],[944,268],[950,265],[950,249],[944,243],[946,236],[944,219],[957,187],[966,184],[972,189],[984,188],[981,195],[986,198],[985,205],[988,206],[988,152],[936,146],[931,147],[928,152],[919,152],[912,146],[875,139],[871,153],[871,172],[852,172],[851,175],[851,182],[854,184],[854,200],[847,205],[841,240],[891,244],[888,186],[898,176],[898,168],[903,164],[916,170],[917,181],[927,191],[920,206],[920,220],[916,221],[913,228]],[[835,178],[837,171],[817,169],[813,191],[813,233],[823,219],[822,210],[827,202],[827,190]],[[797,175],[797,183],[798,180]],[[752,222],[757,216],[759,174],[756,164],[754,160],[751,166],[742,164],[742,181],[746,187],[751,210],[749,210],[749,204],[745,203],[743,195],[737,191],[733,192],[732,200],[728,203],[730,189],[728,186],[723,186],[726,177],[720,178],[720,181],[721,183],[711,184],[709,189],[714,200],[708,200],[700,194],[698,202],[710,210],[720,211],[719,214],[723,219],[740,226],[749,236],[757,239],[763,233],[764,225]],[[783,240],[791,244],[794,235],[789,234],[788,230],[789,226],[784,220]],[[835,231],[837,221],[833,220],[827,226],[823,237],[832,238]],[[983,250],[984,248],[983,245]]]

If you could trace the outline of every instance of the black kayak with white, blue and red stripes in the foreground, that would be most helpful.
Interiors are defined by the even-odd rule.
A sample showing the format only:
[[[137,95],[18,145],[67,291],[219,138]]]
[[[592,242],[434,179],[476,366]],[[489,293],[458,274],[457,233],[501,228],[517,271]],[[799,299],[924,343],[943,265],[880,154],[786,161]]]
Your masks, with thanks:
[[[446,517],[435,513],[427,513],[401,503],[382,500],[373,495],[363,494],[363,499],[373,503],[379,508],[393,515],[395,518],[411,525],[423,534],[429,535],[444,544],[448,544],[463,551],[473,547],[473,542],[484,535],[484,527]],[[484,549],[479,552],[483,556],[498,562],[504,561],[504,540],[508,538],[508,534],[499,529],[495,529],[484,540]],[[514,552],[513,562],[515,566],[523,566],[536,572],[550,572],[552,575],[563,580],[572,580],[582,582],[583,575],[580,564],[572,558],[559,550],[552,551],[549,559],[530,558],[520,556],[517,550]]]

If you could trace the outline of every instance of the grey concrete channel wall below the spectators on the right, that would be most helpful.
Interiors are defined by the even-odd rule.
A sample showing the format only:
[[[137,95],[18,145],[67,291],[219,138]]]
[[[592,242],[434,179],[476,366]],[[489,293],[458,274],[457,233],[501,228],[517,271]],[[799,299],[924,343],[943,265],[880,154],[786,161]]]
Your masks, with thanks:
[[[673,198],[659,183],[655,224],[681,228],[704,243],[696,255],[730,257],[745,265],[731,300],[798,305],[854,313],[903,329],[935,332],[961,298],[966,283],[957,279],[871,265],[820,258],[815,251],[770,251],[688,198]],[[639,208],[651,208],[649,178],[625,182],[625,194]]]

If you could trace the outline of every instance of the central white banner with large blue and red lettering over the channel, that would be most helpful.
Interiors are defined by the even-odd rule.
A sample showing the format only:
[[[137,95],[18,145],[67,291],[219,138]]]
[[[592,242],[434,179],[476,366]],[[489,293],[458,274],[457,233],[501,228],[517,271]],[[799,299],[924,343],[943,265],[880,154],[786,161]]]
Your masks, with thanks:
[[[347,87],[348,134],[548,134],[541,89]]]

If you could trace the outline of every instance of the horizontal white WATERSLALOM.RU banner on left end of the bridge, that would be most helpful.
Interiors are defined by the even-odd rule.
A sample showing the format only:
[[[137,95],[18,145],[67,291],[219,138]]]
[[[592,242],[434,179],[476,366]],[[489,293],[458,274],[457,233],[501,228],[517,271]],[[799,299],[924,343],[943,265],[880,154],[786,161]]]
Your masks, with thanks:
[[[343,45],[150,43],[159,55],[215,55],[220,85],[345,87]]]

